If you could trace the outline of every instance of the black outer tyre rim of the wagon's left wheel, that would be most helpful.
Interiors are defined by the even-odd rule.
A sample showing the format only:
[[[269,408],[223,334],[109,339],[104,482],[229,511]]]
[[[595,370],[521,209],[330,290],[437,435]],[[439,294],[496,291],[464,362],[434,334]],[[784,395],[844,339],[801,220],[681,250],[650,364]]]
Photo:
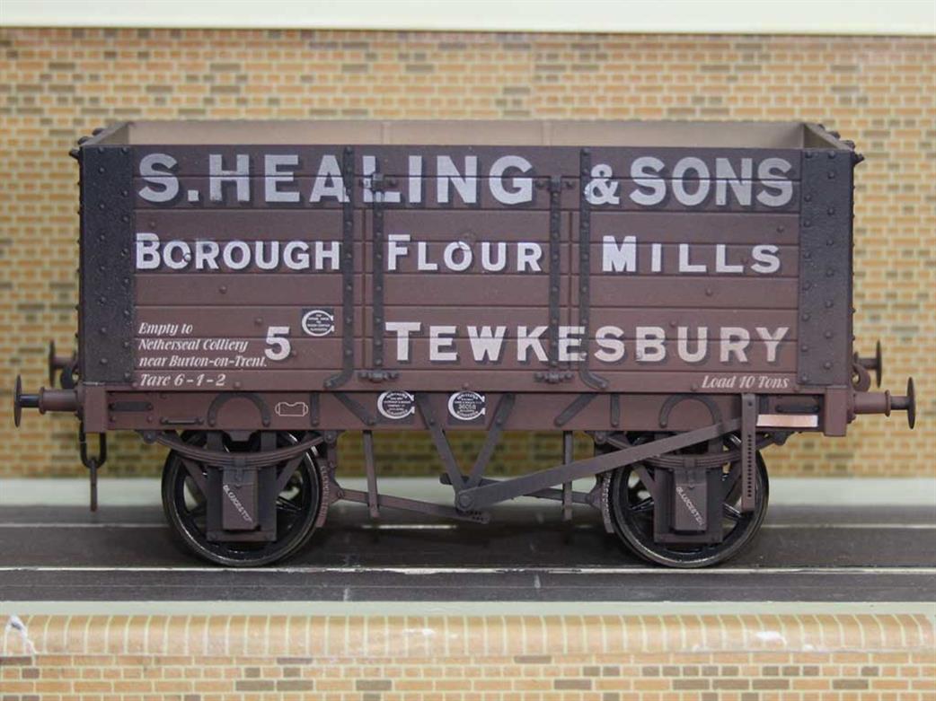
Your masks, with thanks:
[[[193,432],[184,437],[185,442],[197,446],[204,445],[205,442],[203,434]],[[295,442],[295,437],[286,436],[284,440],[281,440],[278,436],[278,442],[289,445],[291,442]],[[184,483],[189,475],[180,455],[175,451],[169,452],[163,466],[163,511],[174,535],[182,541],[186,549],[194,552],[198,557],[216,565],[226,565],[228,567],[270,565],[300,550],[302,546],[308,543],[315,530],[315,522],[321,508],[323,491],[321,474],[311,452],[302,457],[296,468],[296,473],[300,472],[302,484],[308,485],[306,489],[310,496],[309,502],[312,508],[304,508],[298,520],[290,524],[285,535],[278,522],[277,539],[271,543],[251,544],[253,547],[244,549],[244,543],[209,541],[204,532],[198,528],[191,515],[181,508],[180,499],[182,499],[183,506]],[[280,509],[277,507],[278,521],[279,512]]]

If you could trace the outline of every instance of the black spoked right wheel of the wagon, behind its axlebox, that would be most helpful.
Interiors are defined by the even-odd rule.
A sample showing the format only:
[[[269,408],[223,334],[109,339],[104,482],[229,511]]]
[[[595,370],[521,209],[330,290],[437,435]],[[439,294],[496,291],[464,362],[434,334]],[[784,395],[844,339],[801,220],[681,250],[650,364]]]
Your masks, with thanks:
[[[631,442],[640,443],[649,439],[651,436],[636,436]],[[738,445],[738,436],[727,436],[724,448],[728,450]],[[619,467],[611,479],[607,480],[607,504],[615,533],[631,551],[659,565],[689,568],[723,563],[751,543],[767,514],[769,483],[767,465],[760,451],[757,451],[756,461],[754,509],[750,513],[742,513],[740,510],[739,461],[722,467],[722,483],[727,494],[722,505],[723,539],[720,543],[710,544],[679,545],[655,542],[653,496],[640,479],[637,467],[641,465]],[[651,479],[656,469],[662,469],[652,465],[642,466]]]

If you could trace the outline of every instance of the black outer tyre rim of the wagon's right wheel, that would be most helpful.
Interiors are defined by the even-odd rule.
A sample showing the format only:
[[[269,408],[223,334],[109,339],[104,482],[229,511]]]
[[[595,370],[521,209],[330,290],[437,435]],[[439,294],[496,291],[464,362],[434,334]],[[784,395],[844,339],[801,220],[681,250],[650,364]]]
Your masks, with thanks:
[[[750,514],[744,514],[721,543],[708,547],[703,546],[697,552],[679,551],[663,543],[655,543],[652,532],[648,534],[644,530],[638,530],[635,523],[628,519],[622,510],[620,494],[622,494],[622,489],[627,488],[627,480],[633,469],[633,465],[624,465],[614,471],[611,479],[607,480],[608,494],[606,498],[615,533],[621,538],[622,543],[628,550],[648,562],[683,569],[708,567],[724,563],[751,545],[754,537],[760,531],[764,518],[767,516],[769,500],[767,465],[765,465],[764,459],[760,451],[758,451],[754,510]],[[739,494],[738,488],[732,490],[729,499],[736,494]]]

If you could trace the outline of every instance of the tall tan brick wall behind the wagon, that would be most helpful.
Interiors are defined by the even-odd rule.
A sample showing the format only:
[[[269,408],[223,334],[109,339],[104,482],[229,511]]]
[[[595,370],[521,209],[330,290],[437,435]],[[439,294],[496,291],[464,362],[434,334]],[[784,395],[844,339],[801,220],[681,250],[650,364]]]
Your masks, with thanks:
[[[178,118],[605,118],[808,120],[852,138],[856,335],[881,338],[885,382],[917,381],[917,430],[861,417],[847,439],[798,436],[773,474],[936,474],[936,40],[898,37],[0,30],[0,476],[78,474],[76,422],[31,413],[13,429],[22,373],[44,382],[46,344],[73,346],[74,140],[119,120]],[[347,466],[359,465],[354,436]],[[473,455],[480,436],[459,438]],[[388,473],[435,465],[422,436],[377,439]],[[578,451],[587,452],[582,440]],[[549,434],[507,436],[494,469],[543,465]],[[155,474],[136,436],[109,474]]]

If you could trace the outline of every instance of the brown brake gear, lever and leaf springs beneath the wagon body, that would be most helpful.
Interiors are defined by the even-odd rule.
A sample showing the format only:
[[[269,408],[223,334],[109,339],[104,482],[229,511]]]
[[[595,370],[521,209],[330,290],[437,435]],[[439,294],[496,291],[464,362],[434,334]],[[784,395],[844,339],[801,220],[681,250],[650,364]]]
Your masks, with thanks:
[[[572,432],[563,431],[563,462],[546,469],[506,479],[490,479],[485,472],[490,464],[491,456],[499,444],[503,430],[509,420],[514,407],[514,395],[506,393],[501,397],[494,410],[493,419],[485,437],[481,450],[478,452],[474,464],[467,472],[461,469],[446,436],[442,423],[435,417],[431,402],[425,394],[416,395],[416,404],[422,416],[435,449],[445,469],[441,481],[452,487],[454,492],[454,506],[410,499],[388,494],[380,494],[377,485],[377,465],[373,450],[373,431],[363,431],[364,465],[367,478],[367,490],[355,490],[343,487],[335,478],[337,466],[337,440],[340,432],[306,432],[298,436],[298,441],[285,448],[275,448],[275,441],[262,440],[261,450],[256,452],[226,452],[212,450],[212,447],[198,448],[183,441],[174,432],[141,432],[147,442],[160,443],[173,451],[178,451],[184,460],[186,468],[199,487],[207,489],[205,479],[199,465],[209,465],[236,474],[242,480],[244,474],[261,470],[270,465],[284,464],[290,470],[291,463],[300,461],[303,454],[317,447],[325,449],[329,459],[329,468],[325,479],[329,479],[329,499],[331,502],[346,500],[365,504],[373,518],[380,515],[381,508],[403,509],[430,514],[437,517],[455,519],[469,522],[488,522],[490,514],[488,508],[519,496],[533,496],[536,498],[559,501],[563,505],[563,517],[571,518],[573,504],[585,504],[599,507],[600,485],[596,483],[590,492],[578,492],[572,488],[576,479],[599,477],[623,465],[632,465],[643,461],[657,461],[658,465],[672,469],[678,466],[689,468],[706,468],[704,459],[693,456],[680,456],[674,463],[675,456],[668,454],[682,449],[720,439],[722,436],[739,436],[739,451],[737,458],[740,463],[741,479],[741,511],[753,509],[754,503],[754,472],[756,469],[756,451],[765,441],[758,444],[756,434],[757,401],[753,394],[741,395],[741,416],[721,421],[682,433],[655,437],[639,445],[629,445],[625,440],[604,432],[592,434],[597,444],[606,444],[613,450],[604,454],[597,454],[582,460],[572,459]],[[785,434],[771,436],[768,442],[782,442]],[[661,456],[669,457],[670,463],[661,462]],[[719,457],[717,466],[724,465],[725,459]],[[647,476],[648,483],[652,480]],[[262,507],[261,507],[262,513]]]

